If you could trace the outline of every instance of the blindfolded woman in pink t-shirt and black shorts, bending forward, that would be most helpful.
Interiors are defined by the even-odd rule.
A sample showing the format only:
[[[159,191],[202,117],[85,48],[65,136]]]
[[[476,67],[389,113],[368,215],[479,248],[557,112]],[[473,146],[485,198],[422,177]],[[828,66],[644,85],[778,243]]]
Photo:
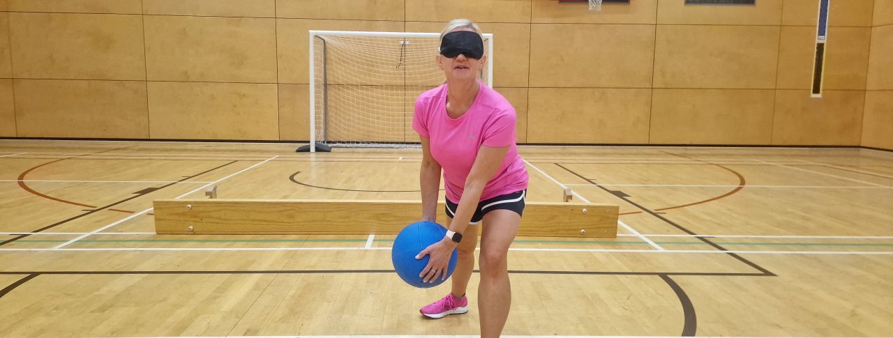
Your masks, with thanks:
[[[505,326],[512,301],[506,256],[524,210],[527,170],[518,155],[515,111],[505,97],[477,75],[487,62],[480,28],[472,21],[450,21],[440,34],[437,63],[447,82],[419,95],[413,129],[421,136],[421,217],[436,221],[440,171],[447,190],[447,236],[416,257],[430,255],[421,272],[426,282],[446,278],[455,248],[459,261],[452,292],[421,308],[439,318],[468,311],[465,290],[480,237],[478,310],[480,334],[496,337]]]

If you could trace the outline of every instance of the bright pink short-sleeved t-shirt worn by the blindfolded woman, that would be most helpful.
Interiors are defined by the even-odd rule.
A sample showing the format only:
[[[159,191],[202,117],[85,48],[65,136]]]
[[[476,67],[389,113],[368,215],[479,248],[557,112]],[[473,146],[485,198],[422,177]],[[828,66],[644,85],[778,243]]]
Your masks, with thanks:
[[[413,129],[430,139],[431,156],[444,170],[447,199],[459,202],[465,179],[481,145],[508,146],[505,160],[480,194],[480,201],[527,189],[527,169],[515,145],[514,108],[503,95],[482,82],[472,107],[458,119],[447,115],[447,85],[422,93],[415,100]]]

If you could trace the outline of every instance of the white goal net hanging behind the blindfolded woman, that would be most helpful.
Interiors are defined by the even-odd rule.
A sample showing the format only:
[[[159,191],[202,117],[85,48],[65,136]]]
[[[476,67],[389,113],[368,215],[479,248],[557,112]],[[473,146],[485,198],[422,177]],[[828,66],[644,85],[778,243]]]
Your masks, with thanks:
[[[445,80],[435,63],[439,33],[312,31],[311,40],[312,142],[418,146],[415,98]],[[485,50],[491,41],[485,35]],[[491,84],[486,67],[480,77]]]

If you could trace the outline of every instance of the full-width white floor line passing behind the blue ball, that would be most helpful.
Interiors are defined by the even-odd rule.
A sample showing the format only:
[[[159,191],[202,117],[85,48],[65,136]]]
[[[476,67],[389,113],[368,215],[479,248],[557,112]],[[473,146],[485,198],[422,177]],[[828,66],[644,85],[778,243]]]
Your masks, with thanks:
[[[302,247],[302,248],[73,248],[73,249],[54,249],[54,248],[22,248],[22,249],[4,249],[0,251],[365,251],[365,250],[384,250],[390,251],[388,247]],[[480,250],[478,248],[477,250]],[[893,251],[748,251],[748,250],[634,250],[634,249],[552,249],[552,248],[509,248],[508,251],[547,251],[547,252],[613,252],[613,253],[739,253],[739,254],[775,254],[775,255],[893,255]]]

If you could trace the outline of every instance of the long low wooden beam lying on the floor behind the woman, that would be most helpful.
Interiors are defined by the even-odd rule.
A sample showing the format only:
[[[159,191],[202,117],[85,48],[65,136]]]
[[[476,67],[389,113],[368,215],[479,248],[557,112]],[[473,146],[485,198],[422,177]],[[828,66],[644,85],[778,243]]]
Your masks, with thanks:
[[[618,206],[527,202],[521,236],[616,237]],[[438,220],[446,221],[443,203]],[[156,200],[157,234],[396,235],[419,220],[418,201]]]

